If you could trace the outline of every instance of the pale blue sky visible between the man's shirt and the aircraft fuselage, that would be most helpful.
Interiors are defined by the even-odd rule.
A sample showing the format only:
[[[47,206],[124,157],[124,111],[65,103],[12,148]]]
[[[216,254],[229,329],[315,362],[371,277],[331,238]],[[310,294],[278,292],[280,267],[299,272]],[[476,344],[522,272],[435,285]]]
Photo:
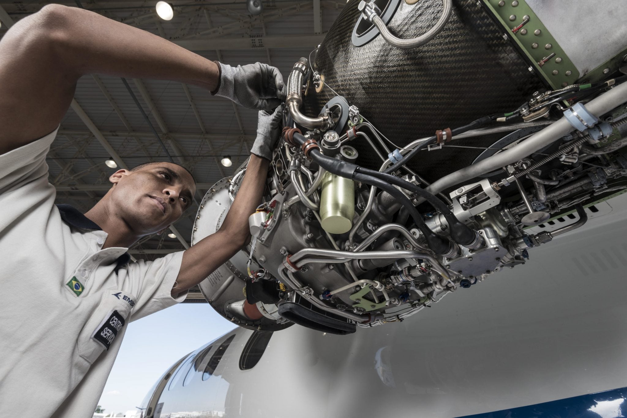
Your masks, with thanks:
[[[135,410],[179,358],[234,328],[208,303],[179,303],[127,327],[98,402],[105,413]]]

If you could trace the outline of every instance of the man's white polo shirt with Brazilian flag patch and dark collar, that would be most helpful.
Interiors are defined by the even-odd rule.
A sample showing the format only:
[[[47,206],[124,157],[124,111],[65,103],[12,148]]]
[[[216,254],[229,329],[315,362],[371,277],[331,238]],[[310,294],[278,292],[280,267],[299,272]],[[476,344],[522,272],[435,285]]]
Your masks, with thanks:
[[[62,219],[55,136],[0,155],[0,417],[92,417],[129,321],[187,293],[171,296],[182,251],[125,264],[76,209]]]

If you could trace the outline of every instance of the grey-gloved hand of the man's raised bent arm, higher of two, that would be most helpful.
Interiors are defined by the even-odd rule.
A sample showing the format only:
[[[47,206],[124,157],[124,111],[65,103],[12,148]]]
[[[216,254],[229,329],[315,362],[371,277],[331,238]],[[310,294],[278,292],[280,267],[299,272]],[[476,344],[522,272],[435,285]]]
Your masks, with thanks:
[[[220,80],[212,95],[255,110],[271,111],[285,100],[287,88],[277,68],[261,63],[232,67],[219,63]]]

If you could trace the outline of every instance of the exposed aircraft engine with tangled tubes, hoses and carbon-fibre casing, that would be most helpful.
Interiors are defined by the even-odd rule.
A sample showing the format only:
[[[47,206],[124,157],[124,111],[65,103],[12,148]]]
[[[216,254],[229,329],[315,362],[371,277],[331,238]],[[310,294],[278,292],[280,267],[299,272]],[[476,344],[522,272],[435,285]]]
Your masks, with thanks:
[[[204,296],[242,327],[345,334],[532,263],[627,191],[625,14],[620,0],[349,1],[290,72],[253,238]],[[192,244],[245,169],[206,194]]]

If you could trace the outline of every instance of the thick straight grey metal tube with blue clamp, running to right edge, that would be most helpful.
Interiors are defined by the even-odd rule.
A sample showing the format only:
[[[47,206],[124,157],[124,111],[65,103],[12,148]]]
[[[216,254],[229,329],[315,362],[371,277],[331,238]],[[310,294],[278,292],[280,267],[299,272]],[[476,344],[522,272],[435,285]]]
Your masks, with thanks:
[[[609,112],[624,102],[627,102],[627,83],[619,84],[612,90],[606,91],[606,93],[594,98],[589,103],[586,103],[586,108],[590,113],[598,116]],[[473,179],[487,172],[500,169],[505,165],[512,164],[527,155],[533,154],[546,145],[552,144],[552,142],[567,135],[567,133],[572,130],[574,130],[574,128],[571,123],[568,122],[566,117],[562,117],[548,127],[520,142],[519,145],[445,175],[440,180],[437,180],[427,187],[426,190],[431,192],[431,194],[436,194],[465,180]]]

